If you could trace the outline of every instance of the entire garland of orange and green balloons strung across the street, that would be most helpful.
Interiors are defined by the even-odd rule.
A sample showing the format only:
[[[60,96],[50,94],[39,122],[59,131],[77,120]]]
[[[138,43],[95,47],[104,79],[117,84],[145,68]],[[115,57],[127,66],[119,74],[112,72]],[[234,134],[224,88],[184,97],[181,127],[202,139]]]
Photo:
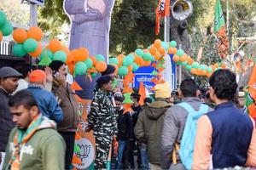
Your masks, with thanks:
[[[13,27],[6,18],[6,14],[0,11],[0,36],[8,36],[13,31]],[[106,71],[107,63],[105,57],[101,54],[90,56],[87,48],[76,48],[69,50],[61,45],[58,40],[50,40],[49,45],[44,49],[39,42],[43,37],[43,31],[38,27],[31,27],[28,31],[16,29],[13,32],[13,38],[17,42],[13,48],[13,53],[18,57],[30,54],[32,57],[40,57],[38,65],[49,65],[52,60],[61,60],[68,65],[69,73],[74,76],[87,75],[90,78],[96,77],[98,72]],[[0,37],[1,38],[1,37]],[[173,54],[173,60],[177,65],[190,71],[197,76],[210,77],[212,72],[219,67],[225,68],[224,64],[201,65],[183,52],[183,49],[177,49],[177,42],[162,42],[160,39],[154,41],[146,49],[137,48],[131,54],[119,54],[115,58],[109,59],[109,64],[114,65],[116,74],[125,77],[129,73],[137,71],[142,66],[153,66],[155,70],[152,75],[155,83],[160,82],[161,71],[164,70],[163,56]],[[131,75],[129,76],[131,77]],[[130,78],[129,78],[130,79]]]

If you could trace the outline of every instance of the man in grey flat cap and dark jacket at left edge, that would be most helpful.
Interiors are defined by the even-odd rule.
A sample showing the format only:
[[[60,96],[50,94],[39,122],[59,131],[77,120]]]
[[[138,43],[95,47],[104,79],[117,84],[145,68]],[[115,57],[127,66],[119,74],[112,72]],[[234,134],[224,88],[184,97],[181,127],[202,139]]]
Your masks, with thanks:
[[[9,98],[18,87],[22,75],[15,69],[5,66],[0,69],[0,163],[4,158],[9,133],[14,127],[13,116],[9,113]],[[3,160],[2,160],[3,161]],[[0,169],[2,169],[0,164]]]

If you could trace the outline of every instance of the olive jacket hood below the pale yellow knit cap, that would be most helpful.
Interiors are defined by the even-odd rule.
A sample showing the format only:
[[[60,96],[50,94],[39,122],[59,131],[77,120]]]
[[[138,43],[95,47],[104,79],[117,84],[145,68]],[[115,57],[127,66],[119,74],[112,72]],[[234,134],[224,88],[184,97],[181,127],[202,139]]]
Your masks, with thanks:
[[[167,103],[165,99],[156,99],[152,104],[146,105],[146,116],[148,116],[149,119],[157,120],[166,113],[171,105],[172,104]]]

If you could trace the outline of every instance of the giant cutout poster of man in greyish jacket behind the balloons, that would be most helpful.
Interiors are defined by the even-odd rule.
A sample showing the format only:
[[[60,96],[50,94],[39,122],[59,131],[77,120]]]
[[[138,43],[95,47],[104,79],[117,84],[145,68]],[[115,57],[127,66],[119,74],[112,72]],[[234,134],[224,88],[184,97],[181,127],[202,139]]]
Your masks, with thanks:
[[[64,0],[63,8],[71,20],[69,49],[88,48],[90,55],[102,54],[108,62],[109,30],[114,0]],[[95,80],[76,77],[82,99],[92,99]]]

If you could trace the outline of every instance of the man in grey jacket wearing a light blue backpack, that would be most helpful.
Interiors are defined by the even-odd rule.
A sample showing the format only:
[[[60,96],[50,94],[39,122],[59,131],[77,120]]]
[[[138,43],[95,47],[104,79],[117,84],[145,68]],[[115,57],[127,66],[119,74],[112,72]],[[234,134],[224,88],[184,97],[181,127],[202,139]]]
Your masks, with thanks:
[[[161,135],[161,168],[191,169],[195,143],[196,122],[212,111],[201,104],[198,86],[193,79],[185,79],[178,90],[182,103],[166,111]]]

